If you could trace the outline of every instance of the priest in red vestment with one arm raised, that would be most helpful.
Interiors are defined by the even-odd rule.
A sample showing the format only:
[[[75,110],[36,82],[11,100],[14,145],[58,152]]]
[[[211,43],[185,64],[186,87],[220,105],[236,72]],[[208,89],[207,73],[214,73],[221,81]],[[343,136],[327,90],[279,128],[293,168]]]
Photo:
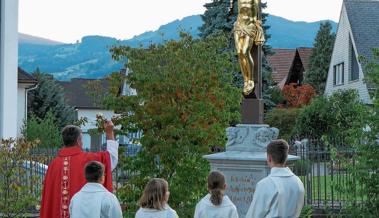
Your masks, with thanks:
[[[40,218],[68,218],[72,196],[86,183],[84,167],[89,161],[99,161],[105,167],[104,187],[112,191],[112,170],[118,161],[112,121],[105,123],[107,151],[83,152],[82,131],[69,125],[62,130],[64,147],[49,164],[42,192]]]

